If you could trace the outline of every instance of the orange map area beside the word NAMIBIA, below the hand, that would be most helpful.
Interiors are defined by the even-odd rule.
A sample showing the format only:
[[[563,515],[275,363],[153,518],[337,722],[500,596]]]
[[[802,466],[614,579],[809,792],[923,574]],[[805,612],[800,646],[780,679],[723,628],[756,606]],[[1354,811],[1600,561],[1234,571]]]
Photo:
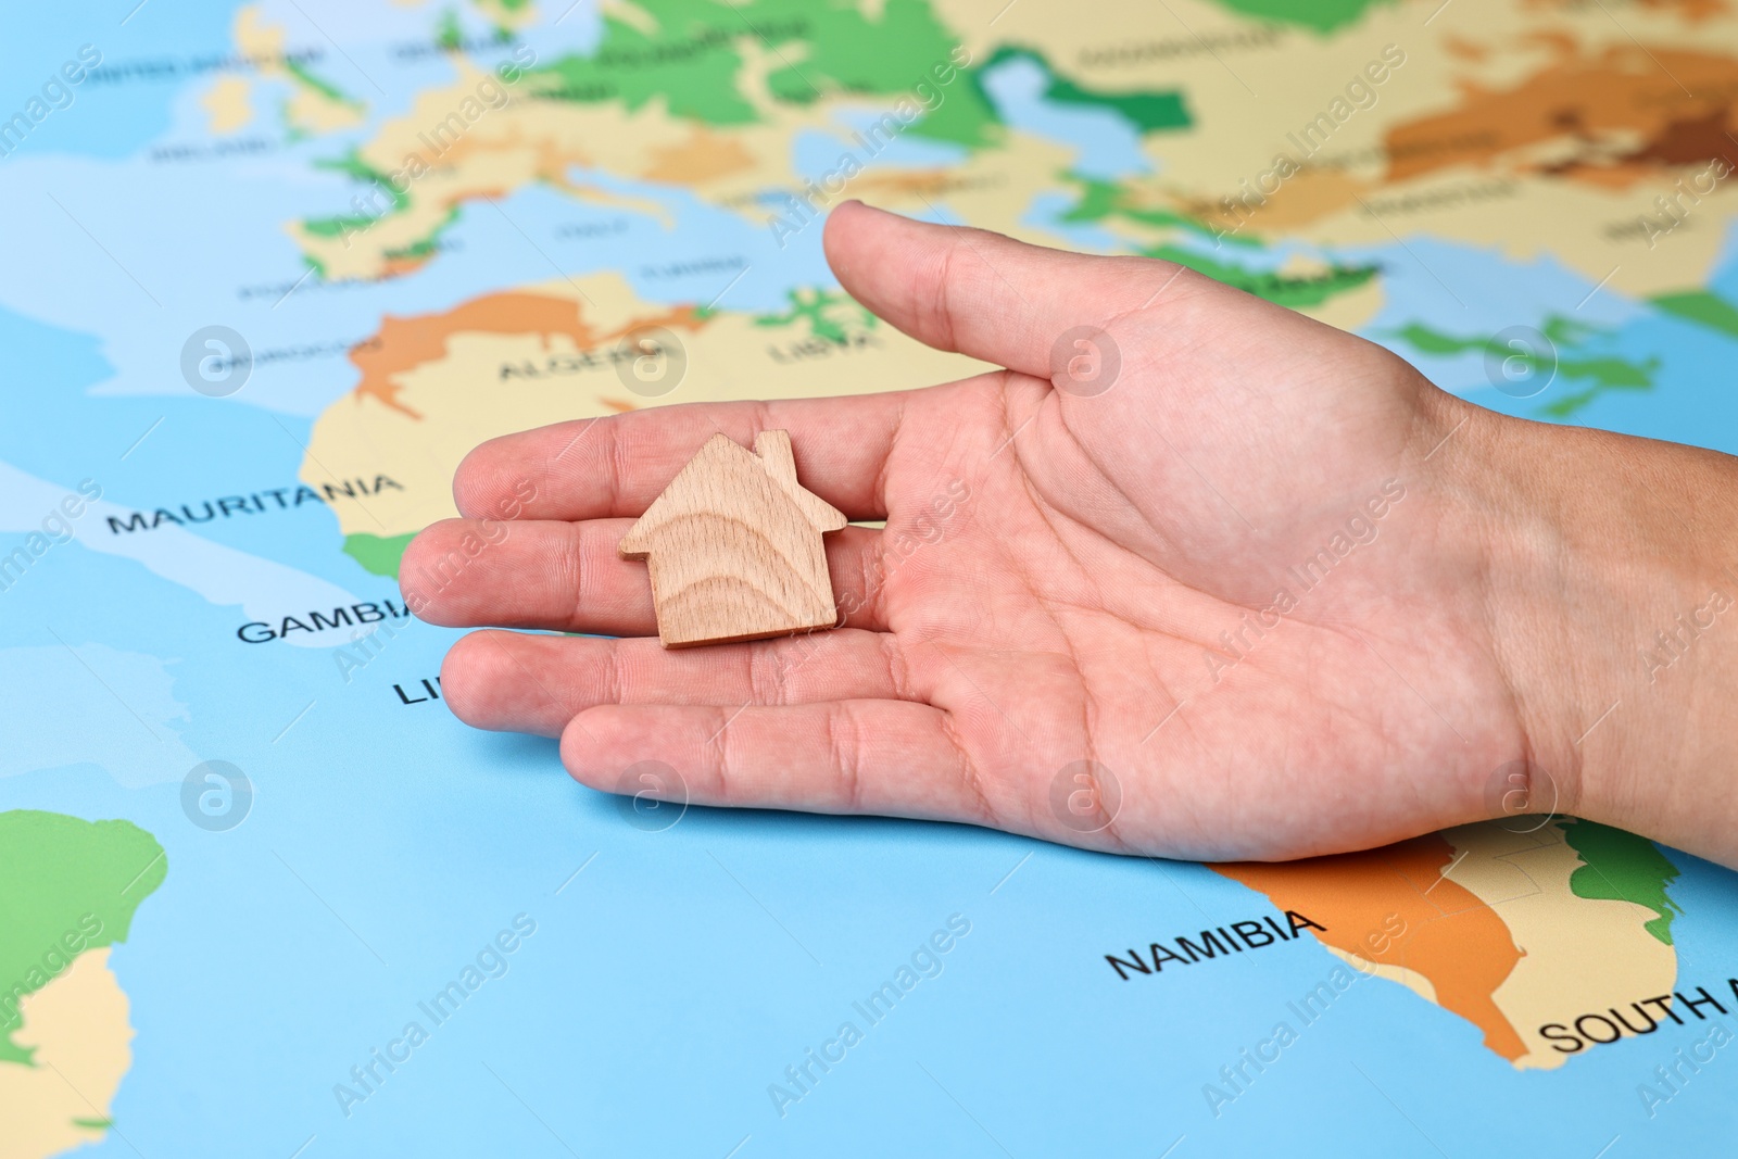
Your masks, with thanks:
[[[1453,858],[1453,846],[1430,834],[1366,853],[1213,869],[1326,926],[1312,931],[1324,945],[1429,978],[1444,1010],[1484,1030],[1484,1044],[1514,1062],[1526,1046],[1491,996],[1521,950],[1489,905],[1443,876]]]

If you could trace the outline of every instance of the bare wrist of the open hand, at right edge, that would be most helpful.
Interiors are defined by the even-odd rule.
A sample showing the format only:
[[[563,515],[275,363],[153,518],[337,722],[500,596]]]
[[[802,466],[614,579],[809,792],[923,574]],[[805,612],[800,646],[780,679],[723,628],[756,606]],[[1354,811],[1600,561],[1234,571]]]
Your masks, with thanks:
[[[1531,805],[1738,862],[1738,460],[1458,405]]]

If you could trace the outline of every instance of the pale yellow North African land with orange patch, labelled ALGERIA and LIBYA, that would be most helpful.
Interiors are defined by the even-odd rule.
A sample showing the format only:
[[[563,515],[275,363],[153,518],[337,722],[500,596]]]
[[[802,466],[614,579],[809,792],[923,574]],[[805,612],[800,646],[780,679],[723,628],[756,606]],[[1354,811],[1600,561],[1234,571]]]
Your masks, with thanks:
[[[648,327],[681,346],[680,384],[664,394],[634,377],[636,348],[617,354]],[[388,318],[351,361],[360,382],[315,421],[301,476],[316,490],[379,474],[396,481],[401,490],[334,506],[344,535],[382,539],[457,514],[454,469],[497,434],[667,403],[909,389],[984,370],[836,292],[798,292],[782,315],[747,315],[655,306],[615,275]]]

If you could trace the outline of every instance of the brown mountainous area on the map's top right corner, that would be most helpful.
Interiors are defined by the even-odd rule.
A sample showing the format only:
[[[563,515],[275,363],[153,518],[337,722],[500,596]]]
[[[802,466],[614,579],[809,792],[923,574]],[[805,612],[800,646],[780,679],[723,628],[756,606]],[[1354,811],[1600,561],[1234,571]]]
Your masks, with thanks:
[[[1550,42],[1556,59],[1509,89],[1465,85],[1456,108],[1396,125],[1387,179],[1455,165],[1561,176],[1629,188],[1662,170],[1726,158],[1738,165],[1738,57],[1616,45],[1583,52]]]

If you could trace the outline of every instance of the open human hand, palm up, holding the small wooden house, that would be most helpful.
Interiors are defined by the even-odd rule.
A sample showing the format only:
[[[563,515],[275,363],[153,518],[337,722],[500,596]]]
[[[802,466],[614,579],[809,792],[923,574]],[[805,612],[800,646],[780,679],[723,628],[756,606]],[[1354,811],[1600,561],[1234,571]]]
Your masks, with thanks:
[[[607,791],[662,761],[704,805],[1191,858],[1491,817],[1521,773],[1536,808],[1735,858],[1729,824],[1642,775],[1715,754],[1675,735],[1670,704],[1595,721],[1644,699],[1634,650],[1653,619],[1705,599],[1665,506],[1714,487],[1728,497],[1686,518],[1738,527],[1731,460],[1484,412],[1378,346],[1161,261],[857,203],[826,240],[876,315],[1006,370],[476,448],[454,483],[471,518],[405,554],[410,606],[619,639],[461,639],[441,671],[461,719],[560,735],[572,775]],[[662,650],[647,570],[617,542],[714,431],[751,445],[779,427],[805,487],[886,521],[827,539],[843,627]],[[525,481],[494,549],[440,587],[419,579]],[[1684,676],[1672,704],[1717,714],[1726,664]]]

